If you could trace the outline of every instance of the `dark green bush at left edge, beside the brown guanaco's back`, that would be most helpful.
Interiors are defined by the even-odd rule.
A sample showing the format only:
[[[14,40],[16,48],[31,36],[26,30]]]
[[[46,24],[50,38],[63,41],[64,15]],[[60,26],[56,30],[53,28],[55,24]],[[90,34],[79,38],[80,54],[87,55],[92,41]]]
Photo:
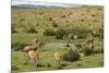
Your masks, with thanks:
[[[21,44],[21,42],[13,42],[11,47],[12,47],[12,50],[14,51],[22,51],[25,46],[27,45]]]

